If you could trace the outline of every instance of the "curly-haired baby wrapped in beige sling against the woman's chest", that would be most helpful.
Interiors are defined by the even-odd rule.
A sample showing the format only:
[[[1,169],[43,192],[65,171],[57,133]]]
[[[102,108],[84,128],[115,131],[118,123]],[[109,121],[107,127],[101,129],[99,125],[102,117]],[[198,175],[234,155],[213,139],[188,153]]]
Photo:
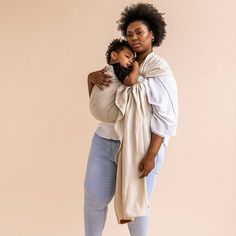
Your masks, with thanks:
[[[112,78],[112,83],[104,90],[93,87],[89,107],[92,115],[103,122],[115,122],[118,107],[115,104],[116,91],[122,86],[133,86],[139,77],[139,65],[135,53],[126,40],[114,39],[108,46],[106,74]]]

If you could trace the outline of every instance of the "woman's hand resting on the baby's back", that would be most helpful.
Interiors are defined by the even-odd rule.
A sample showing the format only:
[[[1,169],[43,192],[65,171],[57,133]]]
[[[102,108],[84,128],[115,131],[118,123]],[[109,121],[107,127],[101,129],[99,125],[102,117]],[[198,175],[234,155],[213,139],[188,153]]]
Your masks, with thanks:
[[[106,67],[104,67],[102,70],[91,72],[88,75],[88,82],[96,85],[101,90],[103,90],[104,86],[110,86],[110,83],[112,83],[111,76],[105,72]]]

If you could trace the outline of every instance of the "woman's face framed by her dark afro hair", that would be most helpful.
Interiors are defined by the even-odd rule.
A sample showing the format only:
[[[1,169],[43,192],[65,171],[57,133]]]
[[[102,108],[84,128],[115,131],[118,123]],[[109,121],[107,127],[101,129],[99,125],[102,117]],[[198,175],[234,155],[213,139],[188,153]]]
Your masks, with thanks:
[[[154,35],[143,21],[134,21],[127,27],[127,41],[137,54],[152,51]]]

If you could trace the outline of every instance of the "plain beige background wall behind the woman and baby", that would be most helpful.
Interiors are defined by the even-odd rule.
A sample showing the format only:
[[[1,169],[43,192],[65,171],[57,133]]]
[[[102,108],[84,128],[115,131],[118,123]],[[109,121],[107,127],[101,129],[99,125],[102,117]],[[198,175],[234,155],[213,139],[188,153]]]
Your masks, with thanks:
[[[82,236],[96,120],[86,76],[105,63],[136,1],[0,1],[0,236]],[[150,1],[166,12],[157,52],[179,88],[178,135],[158,177],[150,236],[236,235],[236,5]],[[110,205],[104,236],[128,235]]]

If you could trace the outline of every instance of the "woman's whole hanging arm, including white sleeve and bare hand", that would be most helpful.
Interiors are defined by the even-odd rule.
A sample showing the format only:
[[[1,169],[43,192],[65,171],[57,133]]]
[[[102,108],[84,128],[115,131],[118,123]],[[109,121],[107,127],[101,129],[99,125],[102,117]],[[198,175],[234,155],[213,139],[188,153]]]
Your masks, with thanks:
[[[163,84],[165,81],[168,81],[166,86]],[[152,106],[152,137],[148,152],[140,163],[141,177],[147,176],[155,167],[155,157],[164,141],[162,137],[175,135],[178,122],[178,98],[174,78],[167,75],[148,79],[146,85],[148,101]]]

